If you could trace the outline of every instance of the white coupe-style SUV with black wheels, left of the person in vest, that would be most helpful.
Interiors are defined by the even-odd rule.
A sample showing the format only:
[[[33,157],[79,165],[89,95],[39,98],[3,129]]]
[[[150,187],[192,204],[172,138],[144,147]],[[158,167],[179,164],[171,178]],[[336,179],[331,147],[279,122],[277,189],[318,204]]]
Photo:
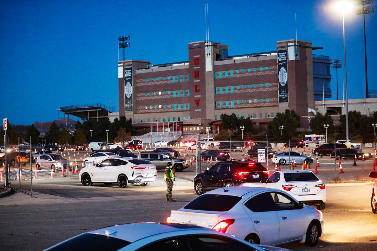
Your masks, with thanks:
[[[95,166],[84,167],[79,173],[79,180],[84,186],[102,182],[118,183],[121,188],[127,187],[130,183],[145,187],[156,179],[157,170],[154,164],[132,157],[108,158]]]

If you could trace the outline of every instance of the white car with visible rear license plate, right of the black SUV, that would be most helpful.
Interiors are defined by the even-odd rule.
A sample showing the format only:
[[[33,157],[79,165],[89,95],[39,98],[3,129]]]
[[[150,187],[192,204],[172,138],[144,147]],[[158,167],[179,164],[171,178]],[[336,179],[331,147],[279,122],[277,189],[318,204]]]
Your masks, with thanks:
[[[316,205],[320,210],[325,209],[325,184],[309,170],[274,172],[262,186],[282,190],[297,201],[307,205]]]

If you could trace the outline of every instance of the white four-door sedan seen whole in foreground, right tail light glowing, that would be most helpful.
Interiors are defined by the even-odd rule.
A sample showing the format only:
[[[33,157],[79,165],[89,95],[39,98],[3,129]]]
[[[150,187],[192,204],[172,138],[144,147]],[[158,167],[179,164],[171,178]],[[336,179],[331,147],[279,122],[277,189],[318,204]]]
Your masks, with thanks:
[[[172,210],[170,221],[213,228],[264,245],[300,241],[314,246],[323,233],[321,211],[265,187],[212,190]]]

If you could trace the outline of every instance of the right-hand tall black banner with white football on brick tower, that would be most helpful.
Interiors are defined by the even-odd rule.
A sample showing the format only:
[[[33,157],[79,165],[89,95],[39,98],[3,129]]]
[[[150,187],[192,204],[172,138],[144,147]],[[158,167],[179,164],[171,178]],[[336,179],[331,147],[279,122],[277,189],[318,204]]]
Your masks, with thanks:
[[[279,80],[279,103],[288,102],[287,50],[277,51],[277,79]]]

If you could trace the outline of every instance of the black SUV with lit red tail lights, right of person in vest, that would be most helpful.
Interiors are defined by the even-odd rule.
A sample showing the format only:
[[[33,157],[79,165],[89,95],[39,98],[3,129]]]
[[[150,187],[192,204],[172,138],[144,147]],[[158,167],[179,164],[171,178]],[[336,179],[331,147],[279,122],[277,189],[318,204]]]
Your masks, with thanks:
[[[261,163],[251,160],[222,161],[194,178],[198,195],[219,187],[239,186],[242,183],[260,182],[268,178],[268,170]]]

